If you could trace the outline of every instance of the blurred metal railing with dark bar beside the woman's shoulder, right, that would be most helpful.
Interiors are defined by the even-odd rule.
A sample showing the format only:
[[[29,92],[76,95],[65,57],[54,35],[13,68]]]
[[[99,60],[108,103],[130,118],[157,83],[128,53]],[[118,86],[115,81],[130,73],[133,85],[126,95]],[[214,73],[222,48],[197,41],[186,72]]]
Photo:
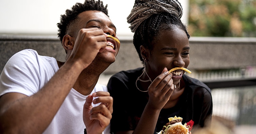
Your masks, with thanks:
[[[256,67],[194,71],[212,91],[213,115],[237,125],[256,124]]]

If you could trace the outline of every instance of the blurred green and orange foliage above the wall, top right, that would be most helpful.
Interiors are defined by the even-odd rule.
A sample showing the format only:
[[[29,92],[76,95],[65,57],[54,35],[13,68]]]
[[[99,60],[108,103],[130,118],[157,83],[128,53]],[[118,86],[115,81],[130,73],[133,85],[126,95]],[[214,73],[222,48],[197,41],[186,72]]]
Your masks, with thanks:
[[[256,37],[256,0],[190,0],[191,36]]]

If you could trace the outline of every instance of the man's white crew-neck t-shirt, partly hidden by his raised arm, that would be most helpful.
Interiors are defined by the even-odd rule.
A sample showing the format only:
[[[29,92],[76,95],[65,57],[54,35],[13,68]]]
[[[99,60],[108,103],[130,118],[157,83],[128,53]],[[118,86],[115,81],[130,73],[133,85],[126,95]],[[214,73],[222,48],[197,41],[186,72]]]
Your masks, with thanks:
[[[31,49],[22,50],[10,58],[1,73],[0,96],[12,92],[31,96],[58,70],[55,58],[38,55]],[[92,93],[96,91],[108,90],[105,85],[96,84]],[[85,125],[82,115],[86,97],[72,88],[44,134],[83,134]],[[104,133],[110,133],[109,126]]]

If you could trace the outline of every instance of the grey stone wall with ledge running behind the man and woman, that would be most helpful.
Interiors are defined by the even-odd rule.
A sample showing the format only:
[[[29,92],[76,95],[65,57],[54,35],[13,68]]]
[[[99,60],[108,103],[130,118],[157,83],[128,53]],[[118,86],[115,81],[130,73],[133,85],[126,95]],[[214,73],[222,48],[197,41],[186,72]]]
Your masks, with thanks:
[[[132,38],[120,40],[116,62],[104,74],[142,67]],[[0,48],[0,72],[11,56],[23,49],[34,49],[60,61],[65,61],[66,55],[57,36],[0,35]],[[190,70],[256,66],[256,38],[191,37],[190,48]]]

